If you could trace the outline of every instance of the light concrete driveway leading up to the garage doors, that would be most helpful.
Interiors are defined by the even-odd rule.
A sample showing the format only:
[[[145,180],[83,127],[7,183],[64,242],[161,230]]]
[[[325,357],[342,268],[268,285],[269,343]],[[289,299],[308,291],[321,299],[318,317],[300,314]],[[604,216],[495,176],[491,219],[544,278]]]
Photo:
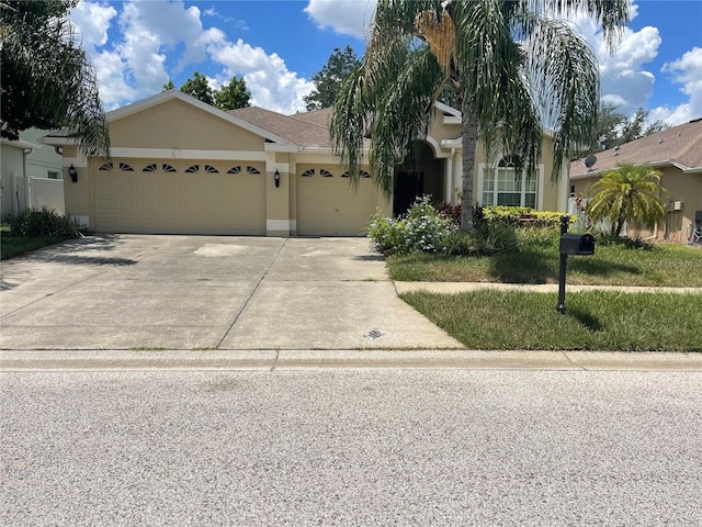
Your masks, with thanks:
[[[95,236],[1,279],[2,349],[463,348],[397,298],[364,238]]]

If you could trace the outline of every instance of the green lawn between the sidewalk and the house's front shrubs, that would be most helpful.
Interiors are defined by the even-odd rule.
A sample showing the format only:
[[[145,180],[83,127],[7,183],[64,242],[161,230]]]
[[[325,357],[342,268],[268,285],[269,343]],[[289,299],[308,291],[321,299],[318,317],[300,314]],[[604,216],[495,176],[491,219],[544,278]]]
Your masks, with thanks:
[[[520,253],[489,257],[394,255],[387,266],[390,278],[398,281],[558,283],[556,245],[531,245]],[[567,283],[702,288],[702,249],[598,245],[595,256],[568,257]]]

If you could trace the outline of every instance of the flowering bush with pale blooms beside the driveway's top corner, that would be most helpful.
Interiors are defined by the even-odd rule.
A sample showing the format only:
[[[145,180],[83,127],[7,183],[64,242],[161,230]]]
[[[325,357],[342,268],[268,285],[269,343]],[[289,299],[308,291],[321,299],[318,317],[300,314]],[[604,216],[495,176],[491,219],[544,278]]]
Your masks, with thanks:
[[[445,242],[457,226],[441,215],[428,195],[417,198],[407,213],[392,218],[377,211],[367,233],[373,247],[384,255],[445,251]]]

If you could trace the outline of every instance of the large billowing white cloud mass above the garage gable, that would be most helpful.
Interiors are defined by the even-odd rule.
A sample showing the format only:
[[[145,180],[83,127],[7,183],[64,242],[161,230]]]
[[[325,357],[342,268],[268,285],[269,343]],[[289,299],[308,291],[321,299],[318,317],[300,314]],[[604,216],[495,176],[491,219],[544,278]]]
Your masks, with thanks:
[[[358,11],[359,2],[351,3]],[[282,113],[305,109],[303,98],[314,85],[290,71],[276,53],[230,42],[218,27],[203,27],[203,15],[224,20],[215,8],[201,12],[182,0],[131,0],[120,11],[115,7],[86,0],[71,11],[107,109],[157,93],[169,78],[199,68],[213,88],[242,76],[256,105]]]

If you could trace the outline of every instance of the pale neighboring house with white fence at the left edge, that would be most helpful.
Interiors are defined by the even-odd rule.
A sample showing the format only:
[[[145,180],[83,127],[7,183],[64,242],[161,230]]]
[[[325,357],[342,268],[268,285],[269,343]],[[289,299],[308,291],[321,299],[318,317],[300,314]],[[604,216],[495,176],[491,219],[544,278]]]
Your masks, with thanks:
[[[61,156],[39,138],[47,131],[27,130],[19,141],[2,139],[0,153],[0,220],[26,209],[49,209],[64,214]]]

